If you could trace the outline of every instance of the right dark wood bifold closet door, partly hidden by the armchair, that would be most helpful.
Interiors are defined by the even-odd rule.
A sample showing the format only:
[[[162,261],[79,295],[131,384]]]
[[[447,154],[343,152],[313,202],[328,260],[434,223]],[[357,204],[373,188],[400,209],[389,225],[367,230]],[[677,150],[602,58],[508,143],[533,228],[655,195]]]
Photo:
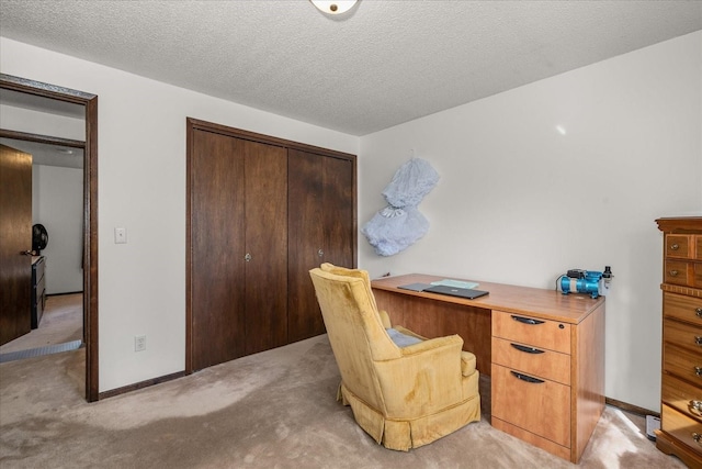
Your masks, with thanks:
[[[353,161],[291,149],[288,155],[288,340],[325,333],[309,269],[353,267]]]

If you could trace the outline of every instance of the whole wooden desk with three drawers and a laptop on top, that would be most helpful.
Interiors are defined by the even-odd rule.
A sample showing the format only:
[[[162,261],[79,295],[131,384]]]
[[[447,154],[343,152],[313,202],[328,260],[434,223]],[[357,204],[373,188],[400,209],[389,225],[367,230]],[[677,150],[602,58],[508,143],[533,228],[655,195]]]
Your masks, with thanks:
[[[492,426],[578,462],[604,410],[604,298],[489,282],[475,300],[398,288],[441,279],[385,277],[372,288],[393,324],[463,338],[491,376]]]

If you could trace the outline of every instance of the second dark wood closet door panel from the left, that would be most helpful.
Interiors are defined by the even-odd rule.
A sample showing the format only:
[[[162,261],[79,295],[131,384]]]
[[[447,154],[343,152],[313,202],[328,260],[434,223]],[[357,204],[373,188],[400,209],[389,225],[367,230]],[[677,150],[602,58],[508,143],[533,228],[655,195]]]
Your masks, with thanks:
[[[287,150],[244,145],[246,353],[254,354],[287,343]]]

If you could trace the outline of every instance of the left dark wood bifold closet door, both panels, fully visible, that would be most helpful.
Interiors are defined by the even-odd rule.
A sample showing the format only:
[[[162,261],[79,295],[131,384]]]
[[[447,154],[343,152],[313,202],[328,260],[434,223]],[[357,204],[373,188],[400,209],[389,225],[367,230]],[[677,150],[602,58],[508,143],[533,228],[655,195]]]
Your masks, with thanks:
[[[285,344],[287,152],[194,130],[190,165],[199,370]]]

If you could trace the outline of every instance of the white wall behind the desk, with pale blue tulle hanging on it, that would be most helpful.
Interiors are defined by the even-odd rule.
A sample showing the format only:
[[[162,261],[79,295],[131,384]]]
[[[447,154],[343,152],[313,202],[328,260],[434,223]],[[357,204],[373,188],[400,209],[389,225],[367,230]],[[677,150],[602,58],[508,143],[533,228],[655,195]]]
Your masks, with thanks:
[[[441,179],[429,233],[390,257],[360,236],[360,264],[539,288],[612,266],[605,394],[658,411],[654,221],[702,214],[701,67],[698,32],[362,137],[360,227],[411,149]]]

